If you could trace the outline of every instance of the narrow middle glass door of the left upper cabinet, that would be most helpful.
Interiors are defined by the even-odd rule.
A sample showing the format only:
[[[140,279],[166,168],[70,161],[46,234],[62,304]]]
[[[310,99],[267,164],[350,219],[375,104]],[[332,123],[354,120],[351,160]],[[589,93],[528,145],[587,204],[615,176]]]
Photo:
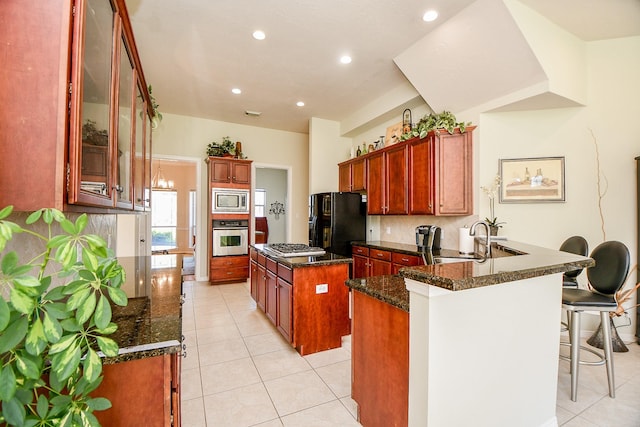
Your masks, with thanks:
[[[134,129],[134,71],[127,43],[120,39],[120,72],[118,78],[118,152],[115,162],[115,191],[118,207],[133,208],[132,147]]]

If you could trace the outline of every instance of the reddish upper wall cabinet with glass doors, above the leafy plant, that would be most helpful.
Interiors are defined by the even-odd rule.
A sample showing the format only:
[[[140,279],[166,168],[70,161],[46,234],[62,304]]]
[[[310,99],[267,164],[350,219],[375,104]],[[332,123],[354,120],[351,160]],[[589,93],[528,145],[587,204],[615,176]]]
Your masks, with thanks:
[[[1,2],[1,206],[149,207],[149,94],[124,3]]]

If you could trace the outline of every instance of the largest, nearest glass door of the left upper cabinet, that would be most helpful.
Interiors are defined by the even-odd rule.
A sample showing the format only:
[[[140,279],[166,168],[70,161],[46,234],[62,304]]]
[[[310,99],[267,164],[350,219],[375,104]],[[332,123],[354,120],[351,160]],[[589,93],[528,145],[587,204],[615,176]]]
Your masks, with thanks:
[[[111,85],[116,14],[111,1],[79,2],[71,88],[69,202],[112,206]]]

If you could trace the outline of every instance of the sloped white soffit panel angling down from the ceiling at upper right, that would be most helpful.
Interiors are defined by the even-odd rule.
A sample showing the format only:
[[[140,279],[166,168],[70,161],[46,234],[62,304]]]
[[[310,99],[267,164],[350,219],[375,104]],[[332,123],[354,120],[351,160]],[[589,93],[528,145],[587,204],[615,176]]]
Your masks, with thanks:
[[[548,78],[501,0],[478,0],[394,58],[434,111],[465,111]]]

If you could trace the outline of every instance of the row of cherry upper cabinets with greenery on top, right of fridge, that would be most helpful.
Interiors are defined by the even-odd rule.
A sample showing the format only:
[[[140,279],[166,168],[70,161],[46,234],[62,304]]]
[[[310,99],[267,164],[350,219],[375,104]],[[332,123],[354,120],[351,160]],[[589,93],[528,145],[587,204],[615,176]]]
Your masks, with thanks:
[[[354,165],[365,160],[369,215],[470,215],[474,129],[432,131],[340,163],[340,191],[355,190]]]

